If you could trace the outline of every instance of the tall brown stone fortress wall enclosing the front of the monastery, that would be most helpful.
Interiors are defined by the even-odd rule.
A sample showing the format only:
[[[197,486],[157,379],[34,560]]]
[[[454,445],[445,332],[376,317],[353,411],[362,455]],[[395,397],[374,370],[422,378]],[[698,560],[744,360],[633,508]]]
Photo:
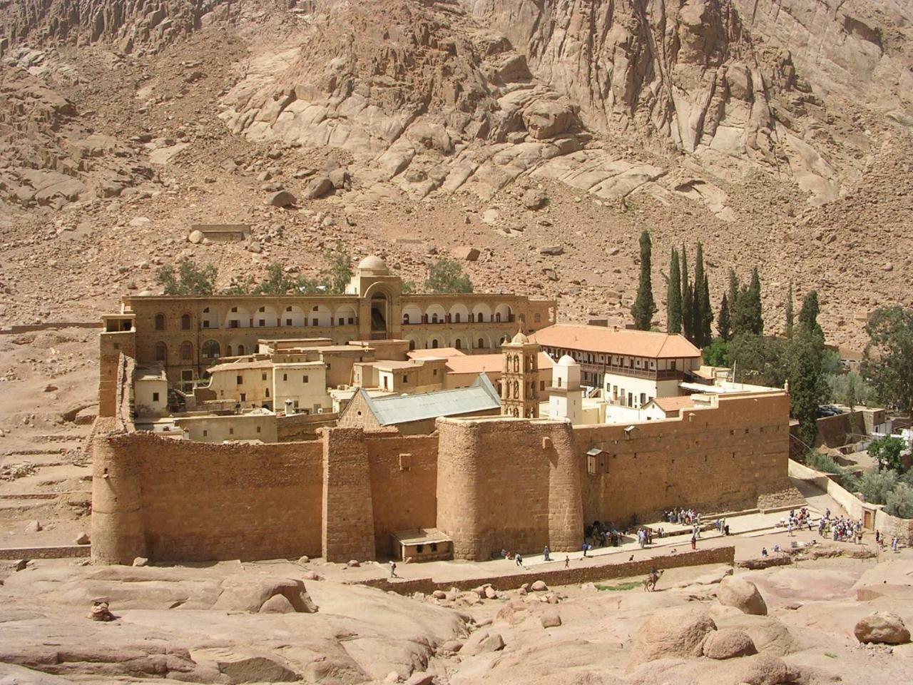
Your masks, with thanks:
[[[132,360],[93,443],[97,563],[290,558],[365,560],[391,533],[436,527],[455,556],[580,548],[583,522],[621,524],[674,506],[754,506],[782,490],[788,397],[721,397],[715,408],[621,426],[524,418],[439,419],[430,436],[320,428],[320,439],[212,444],[135,431]],[[121,411],[124,410],[124,411]],[[747,432],[746,432],[747,431]],[[593,447],[603,451],[588,455]]]

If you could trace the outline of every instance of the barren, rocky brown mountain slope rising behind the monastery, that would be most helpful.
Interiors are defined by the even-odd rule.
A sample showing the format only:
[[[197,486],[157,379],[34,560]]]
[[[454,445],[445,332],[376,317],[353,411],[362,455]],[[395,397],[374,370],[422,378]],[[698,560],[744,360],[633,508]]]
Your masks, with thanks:
[[[822,290],[829,335],[858,342],[910,300],[911,20],[904,0],[0,2],[0,221],[71,216],[103,245],[109,223],[145,239],[142,214],[181,258],[188,221],[221,214],[261,258],[318,268],[283,237],[307,233],[420,277],[450,249],[433,220],[482,249],[477,282],[577,318],[624,316],[649,227],[664,251],[703,239],[715,286],[761,262],[773,316],[787,280]],[[300,212],[256,208],[283,188]]]

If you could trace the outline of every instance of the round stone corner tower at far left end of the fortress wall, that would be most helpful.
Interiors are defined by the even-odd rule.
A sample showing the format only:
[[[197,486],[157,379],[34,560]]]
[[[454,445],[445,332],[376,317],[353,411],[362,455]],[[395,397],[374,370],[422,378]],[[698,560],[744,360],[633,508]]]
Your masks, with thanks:
[[[92,441],[94,564],[132,564],[147,555],[136,447],[131,436],[97,427]]]

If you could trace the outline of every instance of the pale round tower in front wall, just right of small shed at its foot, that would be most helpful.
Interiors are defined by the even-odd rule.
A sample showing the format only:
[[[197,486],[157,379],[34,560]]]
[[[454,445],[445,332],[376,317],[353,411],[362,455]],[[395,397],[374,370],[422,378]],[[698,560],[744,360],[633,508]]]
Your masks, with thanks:
[[[478,560],[478,426],[471,420],[439,418],[437,431],[437,528],[453,540],[454,559]]]

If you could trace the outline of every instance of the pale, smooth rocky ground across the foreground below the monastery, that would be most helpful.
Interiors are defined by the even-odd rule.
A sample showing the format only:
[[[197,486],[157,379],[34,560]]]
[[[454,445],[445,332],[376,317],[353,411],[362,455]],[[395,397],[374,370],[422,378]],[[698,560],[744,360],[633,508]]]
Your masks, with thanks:
[[[530,578],[529,589],[403,597],[323,579],[319,562],[35,562],[0,587],[0,674],[19,683],[412,685],[865,685],[913,676],[910,645],[896,644],[909,638],[900,624],[913,621],[908,558],[731,573],[670,570],[654,593],[640,578],[556,588]],[[94,600],[117,618],[91,621]]]

